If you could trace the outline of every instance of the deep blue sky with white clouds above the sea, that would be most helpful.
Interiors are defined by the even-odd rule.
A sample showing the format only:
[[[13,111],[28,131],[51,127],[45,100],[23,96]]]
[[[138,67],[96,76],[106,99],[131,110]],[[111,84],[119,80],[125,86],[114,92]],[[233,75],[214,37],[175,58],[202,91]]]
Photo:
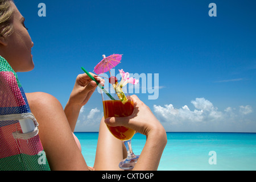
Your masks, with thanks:
[[[18,73],[26,92],[65,107],[81,67],[118,53],[112,73],[139,78],[137,96],[166,131],[256,132],[256,1],[14,2],[34,42],[35,69]],[[102,116],[97,89],[75,131],[98,131]]]

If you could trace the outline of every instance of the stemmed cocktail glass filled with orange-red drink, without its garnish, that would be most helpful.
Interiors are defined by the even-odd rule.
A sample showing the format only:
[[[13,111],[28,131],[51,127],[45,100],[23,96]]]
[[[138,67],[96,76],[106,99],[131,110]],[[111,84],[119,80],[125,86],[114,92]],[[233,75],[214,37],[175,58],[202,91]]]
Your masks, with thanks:
[[[123,104],[119,100],[117,94],[115,94],[114,89],[110,88],[109,90],[112,98],[107,96],[107,94],[101,90],[105,119],[109,117],[128,117],[129,115],[133,114],[134,104],[129,93],[125,94],[128,101],[126,104]],[[124,170],[133,169],[137,163],[137,160],[139,159],[139,155],[135,155],[131,148],[131,138],[133,138],[136,131],[125,126],[113,127],[107,125],[107,127],[115,138],[123,141],[127,150],[127,158],[123,159],[119,163],[119,168]]]

